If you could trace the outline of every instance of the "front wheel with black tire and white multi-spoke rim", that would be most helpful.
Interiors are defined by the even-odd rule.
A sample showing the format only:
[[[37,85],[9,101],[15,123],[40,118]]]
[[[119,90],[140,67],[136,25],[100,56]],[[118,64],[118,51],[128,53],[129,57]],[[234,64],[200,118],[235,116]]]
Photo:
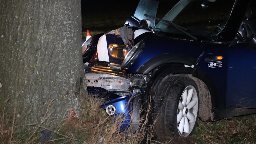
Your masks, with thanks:
[[[196,83],[187,77],[165,77],[155,92],[153,118],[158,141],[189,136],[196,126],[199,112]]]

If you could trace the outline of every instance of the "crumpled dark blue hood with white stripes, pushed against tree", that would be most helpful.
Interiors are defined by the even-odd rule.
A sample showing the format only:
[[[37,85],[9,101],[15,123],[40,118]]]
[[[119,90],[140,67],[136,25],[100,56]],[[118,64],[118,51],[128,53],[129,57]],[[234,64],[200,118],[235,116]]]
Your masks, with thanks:
[[[86,52],[83,57],[92,57],[91,59],[84,59],[84,63],[92,63],[97,61],[115,63],[118,65],[122,64],[123,59],[117,59],[111,56],[110,54],[110,45],[118,44],[118,45],[126,45],[127,50],[129,51],[138,40],[134,43],[134,39],[140,36],[143,33],[150,32],[145,29],[139,29],[137,27],[124,26],[118,28],[116,30],[112,30],[108,33],[101,34],[101,36],[97,36],[98,40],[95,40],[93,44],[88,48],[88,52]],[[99,37],[99,38],[98,38]],[[138,39],[138,38],[137,38]],[[89,50],[90,49],[90,50]],[[94,51],[94,52],[92,52]],[[88,55],[90,53],[90,56]]]

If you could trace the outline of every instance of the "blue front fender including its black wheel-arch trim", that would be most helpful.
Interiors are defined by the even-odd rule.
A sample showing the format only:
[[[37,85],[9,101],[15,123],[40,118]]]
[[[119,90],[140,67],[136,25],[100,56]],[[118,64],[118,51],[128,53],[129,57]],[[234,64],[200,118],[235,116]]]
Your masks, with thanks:
[[[145,32],[134,44],[144,41],[141,54],[134,60],[126,73],[147,74],[159,65],[166,63],[183,63],[193,65],[208,44],[186,39],[174,39]]]

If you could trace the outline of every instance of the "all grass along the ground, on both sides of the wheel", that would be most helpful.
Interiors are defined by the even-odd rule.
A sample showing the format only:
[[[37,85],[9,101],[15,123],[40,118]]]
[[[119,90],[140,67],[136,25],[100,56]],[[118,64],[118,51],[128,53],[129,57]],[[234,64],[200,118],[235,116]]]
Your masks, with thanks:
[[[0,133],[1,144],[6,143],[41,143],[39,137],[41,131],[47,129],[42,123],[50,117],[51,113],[46,112],[45,118],[38,124],[27,124],[12,126],[15,119],[7,117],[5,106],[8,100],[3,97],[4,104],[1,106]],[[144,117],[138,120],[140,127],[133,132],[127,129],[119,132],[122,118],[108,116],[101,108],[101,102],[94,97],[88,96],[82,100],[82,113],[78,115],[78,120],[69,120],[67,115],[63,115],[62,122],[56,129],[51,131],[51,138],[45,143],[63,144],[138,144],[142,140],[146,143],[159,144],[154,141],[153,126],[148,126],[147,118],[150,111],[143,111]],[[48,105],[48,108],[51,103]],[[68,111],[69,112],[69,111]],[[154,125],[154,124],[153,124]],[[29,127],[34,127],[31,131]],[[131,126],[132,127],[132,126]],[[16,132],[16,130],[20,130]],[[256,114],[235,117],[231,120],[219,120],[216,122],[198,121],[193,136],[188,138],[170,138],[165,144],[255,144],[256,143]],[[161,144],[161,143],[160,143]]]

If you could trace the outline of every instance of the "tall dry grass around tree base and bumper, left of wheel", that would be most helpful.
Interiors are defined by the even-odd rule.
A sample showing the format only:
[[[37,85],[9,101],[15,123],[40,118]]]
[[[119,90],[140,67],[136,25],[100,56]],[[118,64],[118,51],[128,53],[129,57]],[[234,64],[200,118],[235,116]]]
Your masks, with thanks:
[[[82,113],[78,115],[79,120],[69,121],[67,116],[63,116],[62,122],[56,129],[48,129],[42,126],[45,120],[50,117],[51,113],[45,113],[45,118],[40,123],[13,126],[13,119],[7,119],[5,113],[5,100],[3,105],[3,113],[1,114],[1,143],[41,143],[39,137],[41,131],[47,129],[51,132],[51,138],[45,143],[84,143],[84,144],[138,144],[146,138],[146,141],[157,143],[151,140],[152,128],[147,126],[147,118],[149,110],[144,111],[145,117],[140,119],[138,123],[140,127],[136,132],[131,128],[120,132],[120,124],[123,118],[112,117],[106,114],[101,108],[102,103],[94,97],[89,96],[82,100]],[[51,103],[48,108],[51,107]],[[68,120],[68,121],[67,121]],[[29,127],[34,127],[31,131]],[[132,127],[132,125],[130,126]],[[15,130],[19,129],[19,132]],[[146,136],[145,136],[146,135]],[[11,138],[10,138],[11,137]]]

